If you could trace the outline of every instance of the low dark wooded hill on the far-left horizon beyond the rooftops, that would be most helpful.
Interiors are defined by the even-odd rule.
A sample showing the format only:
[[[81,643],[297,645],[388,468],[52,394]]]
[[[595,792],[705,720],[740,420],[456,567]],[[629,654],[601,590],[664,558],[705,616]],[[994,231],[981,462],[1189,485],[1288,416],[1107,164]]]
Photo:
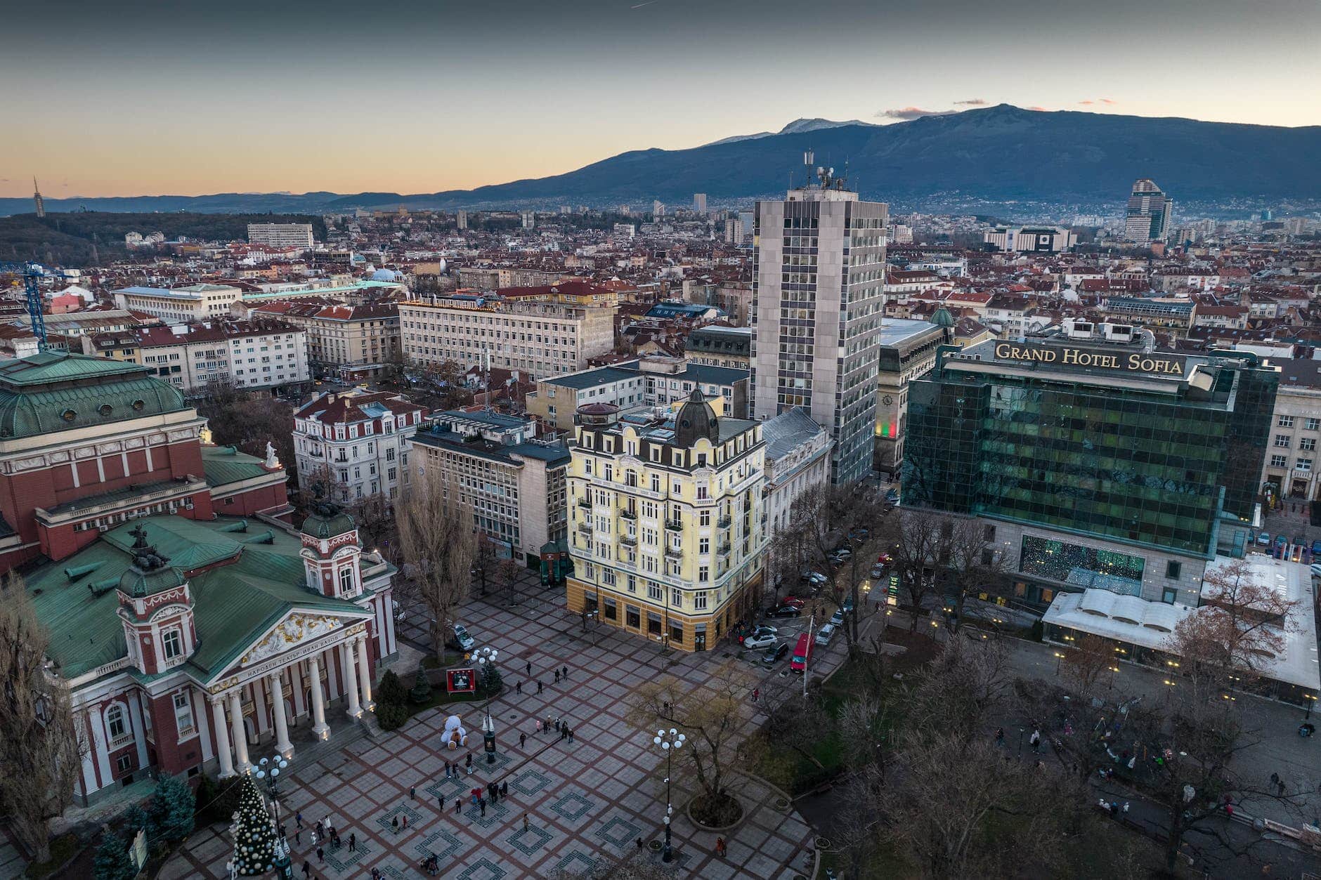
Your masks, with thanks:
[[[124,256],[127,233],[162,233],[203,240],[243,240],[248,223],[312,223],[313,234],[325,238],[320,215],[305,214],[108,214],[100,211],[49,213],[0,217],[0,259],[55,266],[91,266],[92,243],[102,264]]]

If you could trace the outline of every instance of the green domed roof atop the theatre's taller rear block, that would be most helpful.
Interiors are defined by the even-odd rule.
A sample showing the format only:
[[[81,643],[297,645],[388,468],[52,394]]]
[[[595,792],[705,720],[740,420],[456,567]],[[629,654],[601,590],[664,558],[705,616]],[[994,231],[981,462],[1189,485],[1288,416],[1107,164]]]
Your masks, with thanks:
[[[0,437],[30,437],[188,408],[137,363],[45,351],[0,365]]]

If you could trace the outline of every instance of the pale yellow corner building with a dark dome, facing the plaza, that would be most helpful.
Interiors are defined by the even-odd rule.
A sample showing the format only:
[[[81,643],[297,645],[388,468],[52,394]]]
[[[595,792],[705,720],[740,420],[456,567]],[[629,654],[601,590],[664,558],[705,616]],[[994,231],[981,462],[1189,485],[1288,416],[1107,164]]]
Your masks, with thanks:
[[[688,651],[757,606],[764,577],[761,424],[700,391],[672,412],[579,407],[568,474],[568,606]]]

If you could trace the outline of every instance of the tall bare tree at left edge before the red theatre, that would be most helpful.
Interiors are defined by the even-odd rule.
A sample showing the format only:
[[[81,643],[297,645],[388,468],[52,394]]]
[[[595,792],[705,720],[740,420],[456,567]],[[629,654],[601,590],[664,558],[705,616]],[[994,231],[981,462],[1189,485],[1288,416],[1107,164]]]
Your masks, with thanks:
[[[11,575],[0,588],[0,813],[37,863],[50,859],[46,826],[73,803],[83,753],[67,686],[46,669],[49,638]]]

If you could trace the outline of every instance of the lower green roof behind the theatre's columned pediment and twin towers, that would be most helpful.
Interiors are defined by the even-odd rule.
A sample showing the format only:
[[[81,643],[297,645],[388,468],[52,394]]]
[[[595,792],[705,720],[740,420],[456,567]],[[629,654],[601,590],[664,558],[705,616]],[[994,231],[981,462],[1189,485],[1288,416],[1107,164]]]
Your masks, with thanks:
[[[370,617],[370,610],[328,599],[305,587],[301,542],[281,530],[236,531],[242,519],[209,522],[182,517],[144,517],[106,532],[70,559],[48,563],[28,575],[37,617],[50,632],[48,654],[66,678],[82,675],[127,655],[124,629],[115,613],[116,584],[129,572],[139,525],[170,567],[188,569],[240,554],[190,581],[198,649],[186,667],[199,680],[223,673],[239,654],[295,608]],[[243,544],[260,538],[269,543]]]

